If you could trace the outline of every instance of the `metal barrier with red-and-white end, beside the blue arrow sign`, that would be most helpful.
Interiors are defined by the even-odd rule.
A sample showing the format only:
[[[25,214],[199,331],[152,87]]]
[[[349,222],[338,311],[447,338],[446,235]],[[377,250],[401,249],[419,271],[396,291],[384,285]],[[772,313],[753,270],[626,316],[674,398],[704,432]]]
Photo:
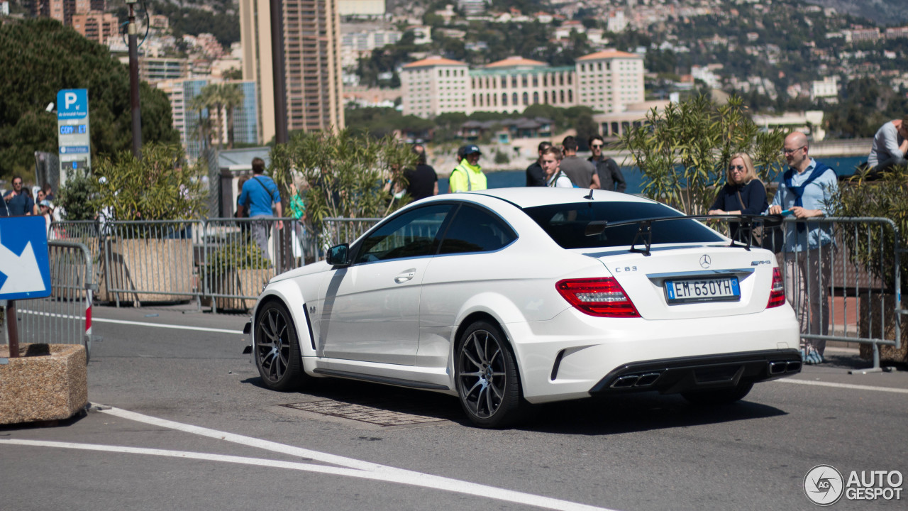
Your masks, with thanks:
[[[94,280],[88,247],[71,241],[47,243],[51,271],[51,296],[16,300],[19,342],[85,346],[92,349],[92,299]]]

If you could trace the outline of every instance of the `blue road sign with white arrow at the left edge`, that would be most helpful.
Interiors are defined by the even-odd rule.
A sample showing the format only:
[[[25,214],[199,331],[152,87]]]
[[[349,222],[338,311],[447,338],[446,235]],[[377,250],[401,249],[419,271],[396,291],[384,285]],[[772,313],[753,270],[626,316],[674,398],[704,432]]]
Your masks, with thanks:
[[[0,300],[51,295],[44,216],[0,218]]]

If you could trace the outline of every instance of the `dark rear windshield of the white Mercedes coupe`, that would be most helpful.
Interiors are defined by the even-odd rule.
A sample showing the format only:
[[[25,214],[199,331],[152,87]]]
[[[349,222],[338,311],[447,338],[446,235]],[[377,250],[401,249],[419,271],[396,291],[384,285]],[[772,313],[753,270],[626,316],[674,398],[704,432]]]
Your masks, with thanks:
[[[555,243],[563,248],[597,248],[634,243],[637,225],[606,227],[601,234],[586,235],[593,221],[621,222],[664,216],[683,216],[661,204],[637,202],[582,202],[525,208]],[[696,220],[666,220],[652,225],[653,245],[662,243],[714,243],[723,241],[715,231]],[[640,242],[638,242],[639,244]]]

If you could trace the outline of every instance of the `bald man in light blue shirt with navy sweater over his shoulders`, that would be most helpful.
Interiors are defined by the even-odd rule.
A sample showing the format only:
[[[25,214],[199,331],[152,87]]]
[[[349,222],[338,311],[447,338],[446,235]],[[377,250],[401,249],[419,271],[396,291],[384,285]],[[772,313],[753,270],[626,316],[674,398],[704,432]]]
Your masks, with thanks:
[[[807,136],[794,132],[785,137],[783,154],[788,170],[779,180],[779,189],[769,206],[770,215],[791,212],[798,220],[828,215],[838,190],[838,176],[807,153]],[[780,266],[785,278],[785,296],[795,308],[801,333],[829,333],[829,300],[825,289],[832,275],[834,250],[832,226],[810,222],[785,223],[785,244]],[[805,364],[823,363],[826,341],[802,339]]]

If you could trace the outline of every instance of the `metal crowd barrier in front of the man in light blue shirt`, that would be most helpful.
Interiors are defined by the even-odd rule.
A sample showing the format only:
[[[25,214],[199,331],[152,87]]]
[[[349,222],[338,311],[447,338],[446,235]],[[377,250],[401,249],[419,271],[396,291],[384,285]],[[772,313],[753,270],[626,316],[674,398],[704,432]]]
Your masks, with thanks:
[[[729,235],[728,219],[719,230]],[[785,236],[798,230],[826,231],[834,240],[815,250],[785,252]],[[789,234],[791,233],[791,234]],[[737,241],[740,232],[732,232]],[[804,236],[804,234],[802,234]],[[764,247],[773,251],[795,308],[804,339],[868,345],[873,368],[880,367],[879,346],[902,347],[899,233],[888,218],[785,218],[766,227]],[[868,268],[868,265],[869,268]],[[868,271],[868,269],[870,271]]]

